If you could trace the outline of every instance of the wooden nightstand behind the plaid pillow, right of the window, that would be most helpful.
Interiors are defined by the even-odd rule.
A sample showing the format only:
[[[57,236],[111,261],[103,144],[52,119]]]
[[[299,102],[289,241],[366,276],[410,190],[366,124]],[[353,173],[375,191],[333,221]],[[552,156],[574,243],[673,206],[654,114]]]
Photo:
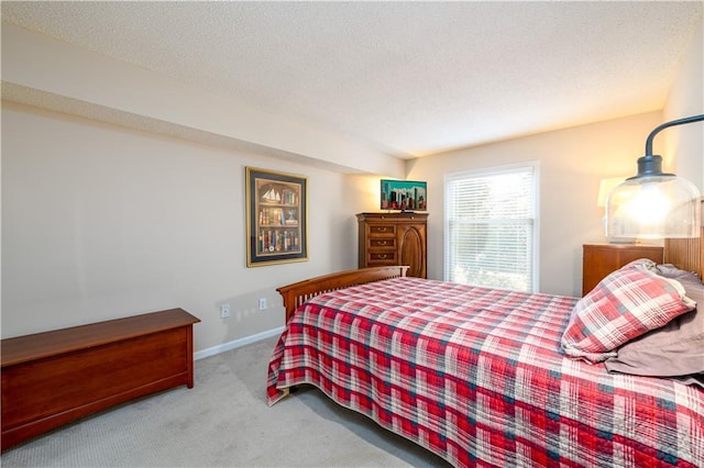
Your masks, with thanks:
[[[582,246],[582,296],[612,271],[639,258],[662,263],[663,248],[640,244],[584,244]]]

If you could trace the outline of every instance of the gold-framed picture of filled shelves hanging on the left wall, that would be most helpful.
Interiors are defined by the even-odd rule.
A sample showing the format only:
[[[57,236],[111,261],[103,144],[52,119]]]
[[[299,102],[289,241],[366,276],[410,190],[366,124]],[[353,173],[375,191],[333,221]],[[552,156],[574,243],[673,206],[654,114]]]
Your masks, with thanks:
[[[246,266],[308,260],[307,178],[245,169]]]

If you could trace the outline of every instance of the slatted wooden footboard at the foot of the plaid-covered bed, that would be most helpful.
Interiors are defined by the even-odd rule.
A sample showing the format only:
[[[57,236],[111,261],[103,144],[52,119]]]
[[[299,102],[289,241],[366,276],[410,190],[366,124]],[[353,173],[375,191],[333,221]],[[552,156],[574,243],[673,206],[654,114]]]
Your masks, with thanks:
[[[310,298],[323,292],[349,288],[350,286],[403,277],[406,276],[407,270],[407,266],[360,268],[358,270],[339,271],[310,278],[293,285],[283,286],[276,290],[284,298],[286,322],[288,322],[296,308]]]

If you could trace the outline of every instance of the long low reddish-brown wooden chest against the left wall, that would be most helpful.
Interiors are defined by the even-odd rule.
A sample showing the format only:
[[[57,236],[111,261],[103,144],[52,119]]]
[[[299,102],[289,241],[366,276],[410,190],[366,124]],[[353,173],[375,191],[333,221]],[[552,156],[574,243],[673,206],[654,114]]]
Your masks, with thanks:
[[[172,309],[2,339],[2,450],[138,397],[193,388],[197,322]]]

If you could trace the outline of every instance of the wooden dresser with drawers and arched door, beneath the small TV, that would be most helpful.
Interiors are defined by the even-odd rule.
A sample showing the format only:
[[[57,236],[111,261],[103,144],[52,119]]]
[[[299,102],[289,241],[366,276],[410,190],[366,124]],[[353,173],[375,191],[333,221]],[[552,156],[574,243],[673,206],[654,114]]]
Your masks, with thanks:
[[[428,213],[359,213],[359,267],[407,265],[427,277]]]

